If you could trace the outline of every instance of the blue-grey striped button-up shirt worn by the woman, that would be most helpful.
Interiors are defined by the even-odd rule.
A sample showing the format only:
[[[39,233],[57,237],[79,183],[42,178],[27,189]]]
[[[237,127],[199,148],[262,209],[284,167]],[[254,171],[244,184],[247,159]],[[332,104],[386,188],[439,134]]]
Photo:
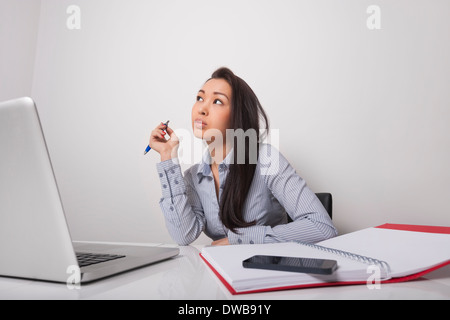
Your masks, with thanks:
[[[233,151],[218,166],[219,201]],[[276,148],[262,144],[255,175],[244,205],[246,221],[255,226],[228,230],[219,218],[219,201],[209,152],[185,171],[177,159],[157,164],[161,181],[160,207],[171,237],[189,245],[202,232],[213,240],[228,237],[230,244],[287,241],[319,242],[337,235],[317,196]],[[287,215],[292,219],[288,223]]]

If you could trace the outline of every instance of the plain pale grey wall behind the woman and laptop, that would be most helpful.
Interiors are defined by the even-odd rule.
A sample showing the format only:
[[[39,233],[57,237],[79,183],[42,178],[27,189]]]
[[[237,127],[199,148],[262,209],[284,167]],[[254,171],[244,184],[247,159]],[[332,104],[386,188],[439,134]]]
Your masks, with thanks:
[[[311,189],[333,193],[340,233],[448,226],[448,12],[445,0],[0,0],[0,98],[37,102],[74,239],[172,242],[158,155],[142,152],[159,121],[191,130],[220,66],[252,86]]]

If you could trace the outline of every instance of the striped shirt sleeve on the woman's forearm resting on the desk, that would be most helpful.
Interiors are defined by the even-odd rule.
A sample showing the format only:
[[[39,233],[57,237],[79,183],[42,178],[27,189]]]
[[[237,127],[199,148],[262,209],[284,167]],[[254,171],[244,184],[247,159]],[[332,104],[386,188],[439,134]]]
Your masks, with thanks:
[[[255,174],[264,181],[293,222],[278,226],[252,226],[228,232],[230,244],[302,241],[316,243],[335,237],[337,230],[317,196],[309,189],[289,162],[274,147],[260,152]]]

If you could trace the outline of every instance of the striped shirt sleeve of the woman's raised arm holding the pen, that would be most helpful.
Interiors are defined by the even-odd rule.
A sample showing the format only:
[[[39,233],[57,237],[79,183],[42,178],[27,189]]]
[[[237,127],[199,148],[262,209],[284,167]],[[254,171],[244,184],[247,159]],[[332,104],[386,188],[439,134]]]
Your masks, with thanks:
[[[179,245],[194,242],[205,228],[205,215],[190,170],[183,177],[181,167],[172,159],[157,163],[162,198],[159,202],[167,230]]]

